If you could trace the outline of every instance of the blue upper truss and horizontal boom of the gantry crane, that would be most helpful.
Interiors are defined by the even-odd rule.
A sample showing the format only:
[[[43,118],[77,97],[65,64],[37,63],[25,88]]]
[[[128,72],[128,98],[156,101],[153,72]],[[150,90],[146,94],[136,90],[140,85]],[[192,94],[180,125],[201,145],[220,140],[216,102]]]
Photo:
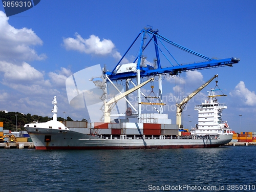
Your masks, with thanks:
[[[136,61],[137,61],[137,70],[140,70],[140,77],[148,77],[148,76],[155,76],[155,75],[161,75],[161,74],[177,75],[177,74],[179,74],[181,72],[185,72],[185,71],[194,71],[194,70],[217,68],[217,67],[224,67],[224,66],[232,67],[232,65],[234,63],[238,63],[240,61],[239,58],[234,58],[234,57],[226,58],[226,59],[212,59],[212,58],[206,57],[206,56],[201,55],[195,51],[187,49],[179,44],[176,44],[175,42],[158,34],[158,30],[153,30],[151,26],[147,26],[146,28],[144,28],[140,31],[140,33],[137,35],[137,37],[133,41],[132,45],[127,49],[127,51],[121,57],[121,59],[119,60],[119,62],[115,66],[115,68],[112,71],[103,71],[103,73],[105,75],[108,75],[108,77],[111,80],[122,80],[122,79],[127,79],[127,78],[136,78],[137,73],[135,71],[127,71],[127,72],[123,72],[123,73],[116,73],[116,72],[117,72],[118,66],[120,68],[120,63],[121,63],[122,59],[125,57],[127,52],[129,52],[129,50],[132,48],[135,41],[139,38],[139,36],[141,34],[142,34],[142,38],[141,38],[139,54],[133,61],[133,63],[136,63]],[[145,42],[146,35],[150,36],[150,39],[148,40],[148,42]],[[199,56],[206,61],[194,62],[194,63],[189,63],[186,65],[180,65],[176,61],[176,59],[172,56],[172,54],[170,54],[170,52],[167,50],[167,48],[163,45],[162,41],[165,41],[168,44],[173,45],[185,52]],[[154,42],[155,53],[156,53],[156,66],[155,67],[153,67],[151,65],[141,65],[141,60],[143,58],[143,51],[146,49],[148,44],[150,44],[150,42]],[[161,44],[164,46],[164,48],[167,50],[167,52],[170,54],[170,56],[176,61],[177,65],[174,66],[172,64],[172,62],[170,62],[170,60],[167,58],[167,56],[159,48],[158,42],[161,42]],[[171,67],[164,67],[164,68],[161,67],[159,51],[166,57],[166,59],[169,61],[170,65],[172,65]]]

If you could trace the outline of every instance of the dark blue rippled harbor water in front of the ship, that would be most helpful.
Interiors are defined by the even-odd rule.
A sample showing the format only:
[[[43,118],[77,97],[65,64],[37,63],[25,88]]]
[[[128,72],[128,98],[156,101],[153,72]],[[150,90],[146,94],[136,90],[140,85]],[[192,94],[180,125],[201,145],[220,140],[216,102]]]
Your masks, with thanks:
[[[2,148],[0,191],[256,191],[255,151]]]

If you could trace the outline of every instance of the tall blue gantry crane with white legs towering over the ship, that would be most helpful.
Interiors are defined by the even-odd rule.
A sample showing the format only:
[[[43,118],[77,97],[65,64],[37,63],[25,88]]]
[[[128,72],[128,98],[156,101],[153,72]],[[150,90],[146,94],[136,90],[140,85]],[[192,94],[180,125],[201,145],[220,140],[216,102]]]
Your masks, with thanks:
[[[226,58],[226,59],[214,59],[206,57],[202,54],[199,54],[195,51],[192,51],[190,49],[187,49],[179,44],[176,44],[175,42],[167,39],[166,37],[160,35],[158,33],[158,30],[153,30],[152,26],[147,26],[144,29],[140,31],[140,33],[137,35],[135,40],[132,42],[131,46],[127,49],[127,51],[124,53],[124,55],[121,57],[117,65],[114,67],[112,71],[107,71],[105,68],[103,70],[103,75],[105,77],[105,82],[111,82],[113,84],[113,81],[118,80],[126,80],[129,81],[131,79],[137,80],[137,85],[140,84],[141,78],[149,78],[154,76],[159,76],[159,103],[162,103],[162,79],[161,75],[178,75],[179,73],[186,72],[186,71],[194,71],[194,70],[201,70],[201,69],[210,69],[210,68],[217,68],[217,67],[225,67],[229,66],[232,67],[234,63],[238,63],[240,61],[239,58]],[[135,42],[139,39],[141,36],[141,42],[139,47],[139,53],[137,56],[135,56],[135,59],[132,63],[123,63],[123,59],[125,55],[130,51],[130,49],[134,46]],[[148,47],[148,45],[153,42],[154,48],[155,48],[155,59],[154,63],[145,62],[146,57],[143,55],[145,49]],[[167,47],[164,45],[164,42],[167,44],[170,44],[182,51],[185,51],[187,53],[193,54],[195,56],[198,56],[202,58],[204,61],[200,62],[193,62],[188,64],[180,64],[177,59],[168,51]],[[169,67],[162,67],[160,62],[160,53],[165,57],[165,63],[167,60],[167,63],[169,63]],[[169,58],[167,56],[169,55]],[[172,61],[175,63],[173,63]],[[132,82],[132,81],[131,81]],[[133,82],[132,82],[133,83]],[[134,84],[134,83],[133,83]],[[135,84],[134,84],[135,86]],[[129,90],[129,87],[126,83],[126,91]],[[135,110],[137,117],[140,117],[141,114],[141,92],[140,89],[138,89],[138,111]],[[143,94],[142,94],[143,95]],[[125,98],[127,103],[129,103],[128,98]],[[131,103],[129,103],[131,105]],[[126,108],[128,108],[128,104]],[[156,108],[155,108],[156,109]],[[157,109],[156,109],[157,110]],[[162,113],[162,105],[160,105],[160,110],[157,110],[158,113]]]

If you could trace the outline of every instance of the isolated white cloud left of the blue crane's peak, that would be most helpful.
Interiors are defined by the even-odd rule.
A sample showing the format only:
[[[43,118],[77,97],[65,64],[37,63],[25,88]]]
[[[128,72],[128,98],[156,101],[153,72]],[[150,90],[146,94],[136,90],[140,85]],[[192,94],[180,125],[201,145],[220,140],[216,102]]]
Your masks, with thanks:
[[[76,38],[64,38],[64,47],[67,50],[75,50],[87,54],[107,55],[112,53],[115,45],[111,40],[100,40],[98,36],[91,35],[90,38],[84,39],[78,33],[75,33]]]

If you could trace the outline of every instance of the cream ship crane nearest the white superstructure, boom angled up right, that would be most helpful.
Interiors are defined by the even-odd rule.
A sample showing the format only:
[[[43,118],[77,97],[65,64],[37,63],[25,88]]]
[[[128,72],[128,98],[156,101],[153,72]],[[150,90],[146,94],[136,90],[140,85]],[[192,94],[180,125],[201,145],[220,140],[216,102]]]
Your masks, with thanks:
[[[177,113],[176,113],[176,124],[179,125],[179,128],[181,127],[181,113],[183,109],[185,108],[187,102],[194,97],[196,94],[198,94],[202,89],[204,89],[212,80],[214,80],[216,77],[218,77],[218,74],[211,77],[208,81],[206,81],[202,86],[197,88],[194,92],[190,93],[188,96],[186,96],[181,102],[176,103],[177,106]]]

